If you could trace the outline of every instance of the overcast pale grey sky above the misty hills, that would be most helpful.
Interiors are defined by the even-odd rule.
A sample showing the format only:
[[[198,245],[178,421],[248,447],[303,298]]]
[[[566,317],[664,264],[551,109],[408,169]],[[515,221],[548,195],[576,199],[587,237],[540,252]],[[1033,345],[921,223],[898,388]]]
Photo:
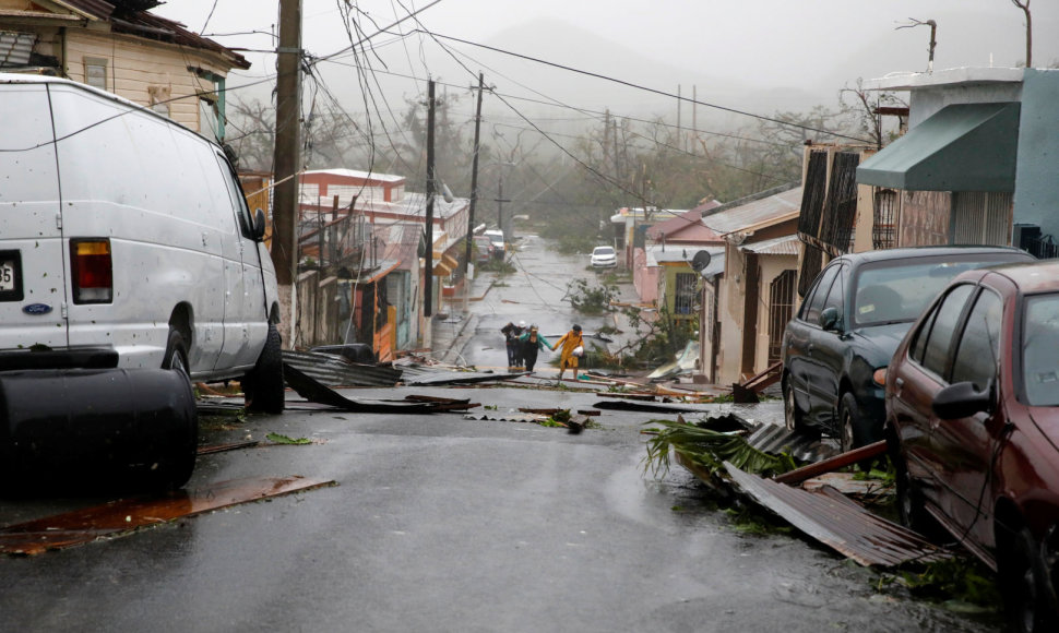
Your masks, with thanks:
[[[357,4],[378,25],[385,26],[429,2],[367,0]],[[310,53],[324,56],[348,46],[340,11],[344,3],[304,0],[304,46]],[[1031,7],[1034,65],[1056,64],[1059,1],[1034,0]],[[275,0],[169,0],[154,12],[192,31],[213,34],[229,47],[267,49],[273,46],[267,35],[221,34],[272,32],[277,8]],[[676,92],[675,84],[681,82],[687,96],[688,86],[695,84],[700,99],[718,105],[738,100],[739,86],[833,95],[857,77],[926,70],[929,29],[896,29],[909,19],[938,21],[936,69],[985,67],[990,62],[1011,67],[1025,58],[1023,14],[1011,0],[441,0],[419,15],[423,27],[438,34],[510,48],[639,85]],[[407,32],[416,26],[408,21],[398,28]],[[367,20],[361,28],[369,34],[377,29]],[[531,68],[534,64],[447,41],[467,56],[463,58],[467,70],[460,69],[437,43],[421,35],[401,40],[380,36],[374,41],[385,44],[380,55],[396,75],[421,80],[430,73],[455,85],[467,85],[473,77],[467,70],[485,70],[498,91],[517,91],[525,84],[525,89],[550,97],[549,88],[558,91],[563,82],[571,81],[592,92],[602,89],[584,77]],[[644,58],[645,63],[630,62],[630,52]],[[249,75],[274,72],[273,56],[246,55],[253,62]],[[345,72],[346,76],[350,74],[348,69]],[[344,75],[329,75],[329,82],[340,84],[332,86],[340,98],[359,100],[353,94],[356,82],[335,82],[330,79],[334,76]],[[392,75],[388,79],[386,89],[398,89],[406,96],[423,89],[421,82]],[[721,89],[718,86],[726,82],[737,87]],[[238,83],[233,77],[229,85]],[[578,99],[569,89],[563,91],[561,98],[567,103]],[[586,107],[598,105],[591,96],[584,96]],[[633,93],[627,96],[633,104],[650,100]],[[620,106],[611,103],[615,98],[606,96],[608,107]],[[356,109],[356,101],[349,107]],[[762,114],[775,109],[778,104],[761,103]]]

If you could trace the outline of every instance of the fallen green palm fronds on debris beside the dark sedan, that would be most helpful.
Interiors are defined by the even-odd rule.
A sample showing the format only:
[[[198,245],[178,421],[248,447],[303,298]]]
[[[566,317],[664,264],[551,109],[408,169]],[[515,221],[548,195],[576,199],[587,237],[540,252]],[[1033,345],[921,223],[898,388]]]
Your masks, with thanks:
[[[722,432],[706,428],[709,420],[690,423],[683,420],[650,420],[647,425],[661,425],[658,434],[647,440],[644,473],[658,477],[669,471],[669,454],[675,452],[685,459],[718,474],[729,462],[740,470],[770,477],[798,467],[788,454],[770,455],[754,449],[738,432]]]

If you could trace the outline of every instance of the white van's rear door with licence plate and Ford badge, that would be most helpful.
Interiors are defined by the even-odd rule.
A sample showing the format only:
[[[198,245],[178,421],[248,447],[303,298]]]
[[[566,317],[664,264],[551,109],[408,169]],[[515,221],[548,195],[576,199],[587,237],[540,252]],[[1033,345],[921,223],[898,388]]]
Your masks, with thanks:
[[[0,83],[0,349],[68,344],[59,177],[46,83]]]

